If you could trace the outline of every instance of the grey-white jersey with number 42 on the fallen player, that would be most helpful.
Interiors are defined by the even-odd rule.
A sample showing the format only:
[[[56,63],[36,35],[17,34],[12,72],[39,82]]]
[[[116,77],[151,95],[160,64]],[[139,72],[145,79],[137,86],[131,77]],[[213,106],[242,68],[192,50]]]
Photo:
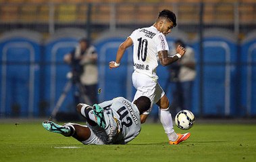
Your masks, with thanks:
[[[126,144],[140,133],[140,113],[123,97],[99,104],[104,109],[105,131],[111,144]]]

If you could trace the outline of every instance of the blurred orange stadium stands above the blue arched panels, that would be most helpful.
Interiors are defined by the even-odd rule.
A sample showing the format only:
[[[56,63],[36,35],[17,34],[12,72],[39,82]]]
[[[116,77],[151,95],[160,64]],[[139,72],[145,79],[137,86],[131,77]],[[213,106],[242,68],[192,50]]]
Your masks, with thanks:
[[[197,32],[200,3],[0,3],[0,32],[29,28],[51,33],[61,27],[103,29],[136,28],[152,24],[161,9],[171,9],[178,16],[178,29]],[[20,1],[22,2],[22,0]],[[39,1],[40,2],[40,1]],[[89,12],[88,12],[89,11]],[[246,34],[256,26],[256,3],[205,2],[205,27],[222,27],[236,34]],[[90,21],[88,21],[90,20]]]

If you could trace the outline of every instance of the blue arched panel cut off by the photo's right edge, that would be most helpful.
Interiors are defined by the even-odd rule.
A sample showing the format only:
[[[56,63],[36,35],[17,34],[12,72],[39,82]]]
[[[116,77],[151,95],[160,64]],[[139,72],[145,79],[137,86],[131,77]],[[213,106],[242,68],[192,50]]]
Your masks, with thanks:
[[[241,43],[242,76],[240,113],[256,115],[256,30],[247,34]]]

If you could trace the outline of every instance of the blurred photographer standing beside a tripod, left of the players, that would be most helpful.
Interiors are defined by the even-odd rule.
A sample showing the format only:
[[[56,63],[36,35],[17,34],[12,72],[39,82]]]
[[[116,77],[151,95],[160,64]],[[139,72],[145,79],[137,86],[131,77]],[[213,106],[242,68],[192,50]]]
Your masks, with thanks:
[[[88,104],[98,103],[97,84],[97,51],[93,45],[90,45],[86,38],[79,41],[79,45],[70,53],[64,55],[64,61],[71,66],[72,81],[74,84],[82,84],[83,90],[78,90],[75,103],[81,103],[81,92],[88,97]]]

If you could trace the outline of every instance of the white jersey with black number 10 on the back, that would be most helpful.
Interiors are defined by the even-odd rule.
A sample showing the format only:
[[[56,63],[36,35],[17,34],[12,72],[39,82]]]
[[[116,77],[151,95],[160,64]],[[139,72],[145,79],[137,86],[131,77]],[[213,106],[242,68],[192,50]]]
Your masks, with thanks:
[[[134,72],[157,79],[158,52],[169,51],[165,36],[157,28],[150,26],[134,30],[129,37],[134,45]]]

